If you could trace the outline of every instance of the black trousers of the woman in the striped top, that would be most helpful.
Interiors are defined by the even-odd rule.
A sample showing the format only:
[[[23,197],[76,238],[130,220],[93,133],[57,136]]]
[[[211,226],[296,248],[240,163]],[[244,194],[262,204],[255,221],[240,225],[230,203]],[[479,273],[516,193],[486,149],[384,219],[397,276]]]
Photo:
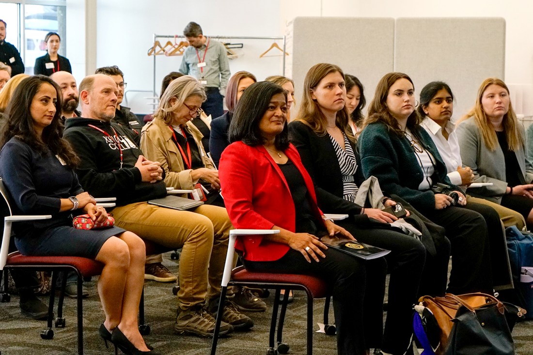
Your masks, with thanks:
[[[385,256],[390,272],[389,306],[381,349],[394,355],[405,353],[413,334],[413,304],[417,302],[426,259],[424,245],[399,230],[360,228],[350,220],[337,223],[358,241],[391,251]]]

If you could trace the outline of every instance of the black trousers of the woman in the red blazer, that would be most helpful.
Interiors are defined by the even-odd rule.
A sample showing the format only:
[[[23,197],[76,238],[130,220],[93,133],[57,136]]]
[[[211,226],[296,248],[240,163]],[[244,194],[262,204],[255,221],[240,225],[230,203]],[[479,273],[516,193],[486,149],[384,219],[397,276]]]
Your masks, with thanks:
[[[300,252],[289,249],[279,260],[244,260],[244,265],[256,272],[302,273],[329,281],[333,287],[337,353],[363,355],[366,349],[381,348],[385,260],[365,261],[332,248],[324,254],[320,262],[311,259],[308,263]]]

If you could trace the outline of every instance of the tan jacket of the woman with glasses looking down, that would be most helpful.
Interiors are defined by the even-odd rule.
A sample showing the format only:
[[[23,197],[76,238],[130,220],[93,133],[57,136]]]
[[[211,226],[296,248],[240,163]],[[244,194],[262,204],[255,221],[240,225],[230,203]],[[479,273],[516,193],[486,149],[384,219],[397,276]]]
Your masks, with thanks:
[[[195,139],[204,166],[214,169],[201,144],[203,135],[198,131],[198,128],[188,122],[185,125],[185,131],[189,132]],[[165,183],[168,187],[191,190],[198,182],[198,180],[192,180],[191,169],[185,170],[180,151],[172,141],[172,131],[162,119],[155,118],[142,127],[141,150],[147,159],[161,163],[161,167],[166,173]]]

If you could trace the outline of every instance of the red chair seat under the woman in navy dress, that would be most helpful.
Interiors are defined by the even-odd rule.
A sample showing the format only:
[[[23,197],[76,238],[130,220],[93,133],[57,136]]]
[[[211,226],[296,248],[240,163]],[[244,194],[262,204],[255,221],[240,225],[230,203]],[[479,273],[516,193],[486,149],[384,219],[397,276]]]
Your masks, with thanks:
[[[19,252],[7,256],[6,266],[17,265],[71,265],[78,269],[84,277],[100,275],[103,264],[79,256],[26,256]]]

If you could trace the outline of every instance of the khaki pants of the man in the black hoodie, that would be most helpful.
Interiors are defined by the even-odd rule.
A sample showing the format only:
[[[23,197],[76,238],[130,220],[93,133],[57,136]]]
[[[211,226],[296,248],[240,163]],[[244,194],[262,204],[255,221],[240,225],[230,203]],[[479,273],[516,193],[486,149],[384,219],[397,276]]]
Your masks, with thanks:
[[[203,303],[220,293],[224,262],[232,229],[225,208],[201,205],[192,211],[134,203],[115,207],[111,215],[117,227],[169,248],[182,248],[180,255],[181,309]]]

